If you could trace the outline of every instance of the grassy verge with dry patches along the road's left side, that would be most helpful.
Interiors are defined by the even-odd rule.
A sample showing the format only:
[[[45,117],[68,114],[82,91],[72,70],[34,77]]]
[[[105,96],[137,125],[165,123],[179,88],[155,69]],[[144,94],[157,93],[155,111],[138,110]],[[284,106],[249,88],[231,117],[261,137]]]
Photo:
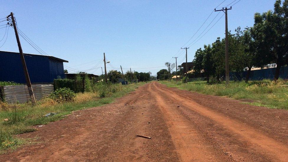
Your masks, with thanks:
[[[44,99],[37,102],[35,106],[31,103],[14,105],[0,103],[0,153],[27,143],[27,139],[20,139],[15,135],[35,131],[36,129],[32,126],[45,125],[63,119],[72,111],[109,104],[143,84],[145,83],[120,85],[116,90],[112,89],[112,92],[101,97],[97,92],[78,93],[74,102],[55,103],[51,99]],[[50,112],[57,114],[51,117],[44,116]]]

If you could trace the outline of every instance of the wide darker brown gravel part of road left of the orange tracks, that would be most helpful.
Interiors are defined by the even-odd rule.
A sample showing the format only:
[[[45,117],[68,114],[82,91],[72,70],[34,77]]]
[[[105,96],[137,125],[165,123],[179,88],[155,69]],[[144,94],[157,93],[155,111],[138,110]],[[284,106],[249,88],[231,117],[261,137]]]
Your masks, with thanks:
[[[40,137],[41,143],[2,154],[0,161],[179,161],[166,123],[147,102],[153,100],[147,86],[112,104],[73,112],[20,135]]]

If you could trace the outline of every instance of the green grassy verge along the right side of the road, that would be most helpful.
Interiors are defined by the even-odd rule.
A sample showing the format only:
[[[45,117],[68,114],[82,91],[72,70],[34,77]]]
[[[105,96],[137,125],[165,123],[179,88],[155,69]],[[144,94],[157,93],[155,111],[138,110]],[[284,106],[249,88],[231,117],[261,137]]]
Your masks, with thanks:
[[[279,80],[277,83],[270,80],[262,81],[231,81],[229,85],[225,82],[219,84],[207,84],[206,81],[192,81],[187,84],[180,81],[160,81],[168,87],[177,87],[202,94],[214,96],[225,96],[233,99],[251,99],[255,106],[269,108],[288,109],[288,86],[287,81]],[[245,104],[248,104],[245,102]]]

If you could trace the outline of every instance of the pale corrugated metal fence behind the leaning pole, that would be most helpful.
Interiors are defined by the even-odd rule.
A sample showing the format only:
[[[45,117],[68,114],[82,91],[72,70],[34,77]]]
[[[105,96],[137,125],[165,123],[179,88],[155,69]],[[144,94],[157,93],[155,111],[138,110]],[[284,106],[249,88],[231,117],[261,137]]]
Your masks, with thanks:
[[[53,91],[52,84],[36,84],[32,85],[35,99],[40,100],[48,97]],[[19,86],[1,86],[0,98],[8,103],[19,102],[24,103],[30,100],[27,85]]]

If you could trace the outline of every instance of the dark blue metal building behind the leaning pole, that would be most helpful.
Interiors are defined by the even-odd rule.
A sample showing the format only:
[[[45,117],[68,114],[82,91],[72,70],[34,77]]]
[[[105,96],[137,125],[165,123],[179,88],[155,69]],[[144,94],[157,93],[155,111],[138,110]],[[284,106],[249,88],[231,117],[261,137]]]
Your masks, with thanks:
[[[63,62],[53,56],[24,53],[32,84],[52,83],[55,78],[64,78]],[[0,81],[14,81],[26,84],[20,54],[0,51]]]

